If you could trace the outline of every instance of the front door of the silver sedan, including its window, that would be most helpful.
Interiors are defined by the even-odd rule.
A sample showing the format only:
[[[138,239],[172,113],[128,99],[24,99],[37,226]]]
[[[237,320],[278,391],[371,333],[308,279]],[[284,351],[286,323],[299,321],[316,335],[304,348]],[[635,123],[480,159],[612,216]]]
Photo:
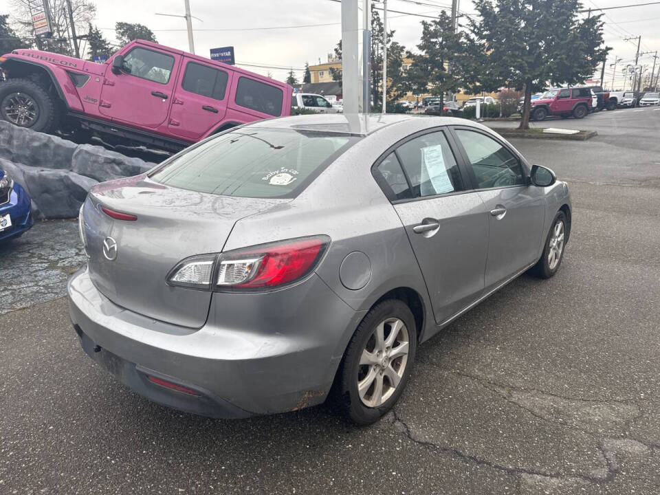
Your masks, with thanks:
[[[544,189],[529,183],[525,164],[505,142],[474,128],[456,126],[454,133],[488,212],[487,291],[538,260]]]

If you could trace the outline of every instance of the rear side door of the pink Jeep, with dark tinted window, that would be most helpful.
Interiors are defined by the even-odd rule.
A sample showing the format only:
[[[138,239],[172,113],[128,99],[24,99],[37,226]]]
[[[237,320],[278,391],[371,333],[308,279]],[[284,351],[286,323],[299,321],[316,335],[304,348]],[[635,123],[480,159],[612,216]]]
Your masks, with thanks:
[[[172,99],[168,130],[197,141],[215,129],[227,113],[233,72],[184,58]]]

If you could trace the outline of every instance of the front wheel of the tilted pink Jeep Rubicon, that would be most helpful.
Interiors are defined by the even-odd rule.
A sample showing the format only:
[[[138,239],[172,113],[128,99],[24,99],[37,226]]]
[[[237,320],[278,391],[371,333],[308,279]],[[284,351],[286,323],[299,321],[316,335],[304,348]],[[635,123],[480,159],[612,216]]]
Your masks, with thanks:
[[[33,131],[51,131],[55,103],[50,95],[28,79],[9,79],[0,84],[0,118]]]

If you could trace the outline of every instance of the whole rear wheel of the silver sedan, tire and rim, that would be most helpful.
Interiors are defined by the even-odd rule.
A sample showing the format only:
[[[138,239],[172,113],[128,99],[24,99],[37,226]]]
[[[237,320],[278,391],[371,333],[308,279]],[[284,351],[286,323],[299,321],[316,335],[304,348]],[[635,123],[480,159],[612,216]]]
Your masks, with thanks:
[[[360,322],[344,353],[337,400],[360,425],[378,421],[404,391],[417,350],[415,318],[397,299],[378,303]]]

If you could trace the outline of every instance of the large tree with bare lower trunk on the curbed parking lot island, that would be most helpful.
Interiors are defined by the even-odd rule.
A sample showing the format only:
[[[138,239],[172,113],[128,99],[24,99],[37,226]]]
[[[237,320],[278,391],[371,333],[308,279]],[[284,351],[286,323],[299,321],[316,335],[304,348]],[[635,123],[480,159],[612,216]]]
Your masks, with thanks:
[[[580,19],[580,0],[475,0],[474,8],[474,68],[491,85],[525,89],[520,129],[529,128],[532,92],[581,83],[609,50],[601,15]]]

